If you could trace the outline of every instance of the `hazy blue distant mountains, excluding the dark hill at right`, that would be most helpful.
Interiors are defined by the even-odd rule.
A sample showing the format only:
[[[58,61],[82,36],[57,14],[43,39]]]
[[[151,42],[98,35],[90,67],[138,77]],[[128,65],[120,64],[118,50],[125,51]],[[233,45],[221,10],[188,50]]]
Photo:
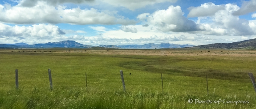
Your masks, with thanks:
[[[144,44],[144,45],[83,45],[76,41],[60,41],[60,42],[48,42],[45,44],[34,44],[28,45],[26,43],[16,43],[16,44],[0,44],[0,48],[92,48],[92,47],[104,47],[104,48],[114,48],[114,49],[162,49],[162,48],[183,48],[192,47],[195,45],[177,45],[177,44]]]

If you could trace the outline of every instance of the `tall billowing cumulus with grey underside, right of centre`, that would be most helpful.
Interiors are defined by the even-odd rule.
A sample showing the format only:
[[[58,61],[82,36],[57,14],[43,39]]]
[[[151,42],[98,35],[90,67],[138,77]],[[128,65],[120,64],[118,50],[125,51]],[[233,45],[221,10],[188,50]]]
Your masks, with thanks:
[[[141,15],[147,15],[145,13]],[[167,10],[158,10],[146,17],[147,23],[157,26],[158,30],[163,32],[188,32],[204,30],[194,21],[185,18],[183,11],[179,6],[170,6]]]

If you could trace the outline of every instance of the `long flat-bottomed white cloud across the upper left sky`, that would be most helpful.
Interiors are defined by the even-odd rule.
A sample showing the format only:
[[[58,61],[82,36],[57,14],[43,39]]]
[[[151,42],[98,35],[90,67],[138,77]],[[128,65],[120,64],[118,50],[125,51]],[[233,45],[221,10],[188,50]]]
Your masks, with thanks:
[[[135,24],[134,20],[125,19],[115,13],[98,11],[94,8],[81,9],[50,6],[44,1],[38,1],[34,7],[21,7],[19,5],[6,8],[0,4],[1,22],[16,24],[34,23],[69,23],[69,24]]]

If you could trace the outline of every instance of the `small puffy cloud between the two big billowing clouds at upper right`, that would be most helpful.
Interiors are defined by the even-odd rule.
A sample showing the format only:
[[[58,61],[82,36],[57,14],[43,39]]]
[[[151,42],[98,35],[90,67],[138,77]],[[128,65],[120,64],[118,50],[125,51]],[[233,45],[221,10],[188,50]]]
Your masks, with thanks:
[[[199,7],[190,7],[188,8],[190,12],[187,17],[203,17],[203,16],[211,16],[215,15],[215,13],[219,10],[224,10],[224,5],[215,5],[213,3],[205,3],[201,4]]]

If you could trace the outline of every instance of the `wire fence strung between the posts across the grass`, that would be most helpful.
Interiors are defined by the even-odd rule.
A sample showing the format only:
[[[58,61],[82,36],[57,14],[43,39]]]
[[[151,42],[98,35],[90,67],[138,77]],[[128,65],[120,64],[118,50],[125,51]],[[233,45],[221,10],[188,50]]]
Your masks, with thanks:
[[[16,86],[16,75],[1,74],[0,87]],[[86,90],[123,90],[120,73],[52,73],[52,88],[84,88]],[[123,73],[126,91],[159,91],[183,94],[255,94],[251,79],[215,79],[214,77],[191,77],[168,74]],[[18,87],[49,87],[49,73],[20,73]]]

